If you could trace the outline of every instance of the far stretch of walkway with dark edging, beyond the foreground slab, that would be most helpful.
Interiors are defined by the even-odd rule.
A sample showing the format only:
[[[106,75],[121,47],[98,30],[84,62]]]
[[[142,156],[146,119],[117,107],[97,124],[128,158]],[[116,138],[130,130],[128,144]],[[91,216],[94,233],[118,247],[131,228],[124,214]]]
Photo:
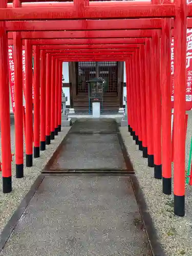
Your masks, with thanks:
[[[133,173],[133,166],[123,146],[113,119],[77,120],[44,173],[90,170]]]

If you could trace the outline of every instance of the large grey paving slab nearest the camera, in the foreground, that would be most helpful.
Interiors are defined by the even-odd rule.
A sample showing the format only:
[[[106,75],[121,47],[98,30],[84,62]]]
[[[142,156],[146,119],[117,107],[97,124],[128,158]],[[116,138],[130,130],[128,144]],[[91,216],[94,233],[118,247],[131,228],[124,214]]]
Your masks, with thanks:
[[[47,176],[1,256],[151,256],[130,177]]]

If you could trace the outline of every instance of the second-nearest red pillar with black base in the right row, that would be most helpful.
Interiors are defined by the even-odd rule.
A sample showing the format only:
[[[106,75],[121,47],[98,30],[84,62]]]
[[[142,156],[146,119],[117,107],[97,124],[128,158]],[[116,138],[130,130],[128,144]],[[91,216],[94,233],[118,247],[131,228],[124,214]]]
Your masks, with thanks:
[[[170,77],[170,18],[162,20],[161,30],[161,118],[162,118],[162,182],[163,193],[172,194],[172,132]]]

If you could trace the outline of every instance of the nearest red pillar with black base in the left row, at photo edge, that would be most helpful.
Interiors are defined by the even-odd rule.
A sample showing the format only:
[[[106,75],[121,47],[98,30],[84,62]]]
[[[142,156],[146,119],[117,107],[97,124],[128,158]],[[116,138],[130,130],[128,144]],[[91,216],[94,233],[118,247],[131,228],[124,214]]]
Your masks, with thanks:
[[[0,8],[7,8],[7,2],[0,0]],[[0,118],[3,193],[12,190],[11,181],[11,135],[8,76],[8,38],[5,23],[0,22]],[[23,113],[23,112],[22,112]]]

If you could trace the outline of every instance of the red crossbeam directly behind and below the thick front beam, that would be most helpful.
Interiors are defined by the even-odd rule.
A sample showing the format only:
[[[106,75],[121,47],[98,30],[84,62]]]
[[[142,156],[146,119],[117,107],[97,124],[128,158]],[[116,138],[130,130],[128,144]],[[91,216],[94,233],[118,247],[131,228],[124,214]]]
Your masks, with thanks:
[[[161,19],[28,20],[6,22],[7,31],[161,29]]]

